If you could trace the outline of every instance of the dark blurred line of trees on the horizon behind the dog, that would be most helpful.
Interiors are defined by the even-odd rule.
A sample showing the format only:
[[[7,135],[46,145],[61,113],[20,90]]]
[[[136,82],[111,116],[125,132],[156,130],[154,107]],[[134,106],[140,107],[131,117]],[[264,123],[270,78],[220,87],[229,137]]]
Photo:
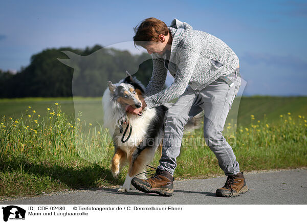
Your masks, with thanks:
[[[107,81],[118,82],[126,70],[146,86],[151,56],[99,45],[46,49],[31,56],[30,64],[16,74],[0,70],[0,97],[100,97]]]

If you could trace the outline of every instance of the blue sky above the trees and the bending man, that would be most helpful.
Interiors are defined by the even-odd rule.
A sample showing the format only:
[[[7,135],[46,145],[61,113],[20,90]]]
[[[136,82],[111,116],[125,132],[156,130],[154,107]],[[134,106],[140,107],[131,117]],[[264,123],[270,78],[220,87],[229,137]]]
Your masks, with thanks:
[[[19,70],[46,48],[131,41],[147,17],[178,18],[225,41],[245,95],[307,95],[305,1],[2,1],[0,69]]]

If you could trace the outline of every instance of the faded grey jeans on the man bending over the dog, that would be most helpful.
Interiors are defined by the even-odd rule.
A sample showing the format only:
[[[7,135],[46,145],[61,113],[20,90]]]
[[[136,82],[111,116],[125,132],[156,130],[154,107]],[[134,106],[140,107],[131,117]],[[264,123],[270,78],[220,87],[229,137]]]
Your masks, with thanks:
[[[188,86],[178,101],[168,109],[159,169],[173,175],[184,126],[192,117],[204,110],[205,141],[214,152],[218,165],[226,175],[240,171],[233,150],[222,133],[232,102],[241,85],[240,77],[229,79],[234,83],[231,87],[220,78],[199,91]]]

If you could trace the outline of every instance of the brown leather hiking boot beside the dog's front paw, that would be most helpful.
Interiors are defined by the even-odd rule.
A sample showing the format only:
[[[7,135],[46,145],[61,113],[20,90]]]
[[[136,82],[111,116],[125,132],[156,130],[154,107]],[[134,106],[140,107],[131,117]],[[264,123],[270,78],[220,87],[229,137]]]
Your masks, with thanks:
[[[134,177],[131,184],[136,189],[145,193],[158,193],[161,196],[171,196],[174,191],[173,181],[174,178],[169,172],[157,169],[156,173],[147,180]]]

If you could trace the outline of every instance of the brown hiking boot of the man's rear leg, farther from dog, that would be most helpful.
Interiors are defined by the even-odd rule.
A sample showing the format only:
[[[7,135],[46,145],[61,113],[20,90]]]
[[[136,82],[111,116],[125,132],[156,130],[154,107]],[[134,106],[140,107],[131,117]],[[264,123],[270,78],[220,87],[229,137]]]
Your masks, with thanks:
[[[215,194],[218,197],[236,197],[240,193],[246,193],[247,191],[248,188],[243,172],[239,172],[236,175],[228,175],[224,187],[217,189]]]

